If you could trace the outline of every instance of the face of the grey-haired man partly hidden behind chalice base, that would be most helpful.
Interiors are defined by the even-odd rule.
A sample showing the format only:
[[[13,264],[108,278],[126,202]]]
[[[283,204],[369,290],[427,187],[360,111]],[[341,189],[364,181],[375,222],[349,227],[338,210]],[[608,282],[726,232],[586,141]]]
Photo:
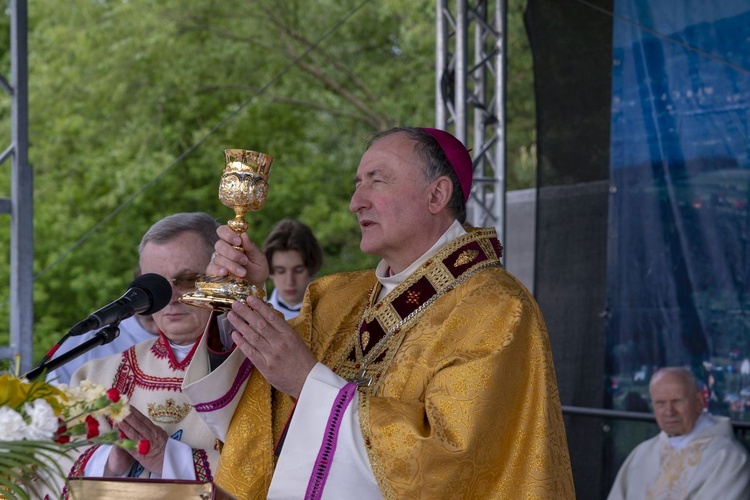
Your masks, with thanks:
[[[211,315],[208,309],[188,306],[177,300],[194,289],[195,277],[205,273],[211,257],[200,251],[204,246],[196,233],[185,232],[166,243],[150,241],[141,251],[141,272],[160,274],[172,285],[169,304],[155,312],[153,318],[159,330],[178,345],[195,342]]]

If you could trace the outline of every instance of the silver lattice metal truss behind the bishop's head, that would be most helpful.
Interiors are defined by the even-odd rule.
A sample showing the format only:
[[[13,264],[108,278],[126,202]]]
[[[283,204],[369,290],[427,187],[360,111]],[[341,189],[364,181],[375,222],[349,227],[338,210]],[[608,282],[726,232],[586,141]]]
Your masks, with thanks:
[[[437,0],[435,124],[472,148],[467,222],[494,226],[505,241],[507,2],[456,0],[454,7]]]

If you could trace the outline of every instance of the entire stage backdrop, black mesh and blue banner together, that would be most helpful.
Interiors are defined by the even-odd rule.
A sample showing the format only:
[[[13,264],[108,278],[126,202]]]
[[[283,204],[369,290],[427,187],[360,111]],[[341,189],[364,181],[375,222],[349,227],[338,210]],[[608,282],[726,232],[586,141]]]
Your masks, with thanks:
[[[650,412],[654,370],[685,366],[710,411],[750,420],[750,6],[703,6],[528,1],[534,290],[564,405]],[[580,499],[658,432],[565,423]]]

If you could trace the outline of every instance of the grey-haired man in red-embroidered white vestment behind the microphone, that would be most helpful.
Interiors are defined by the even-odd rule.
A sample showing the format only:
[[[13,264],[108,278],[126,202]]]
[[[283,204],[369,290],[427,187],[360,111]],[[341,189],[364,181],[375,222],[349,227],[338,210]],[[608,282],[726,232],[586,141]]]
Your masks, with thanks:
[[[84,451],[71,477],[143,477],[210,481],[218,462],[216,438],[182,394],[182,379],[211,312],[184,305],[211,259],[218,223],[204,213],[165,217],[139,246],[140,268],[172,284],[169,304],[153,314],[159,335],[120,354],[84,364],[71,385],[90,380],[130,399],[131,414],[119,424],[129,439],[147,439],[146,454],[117,446]]]

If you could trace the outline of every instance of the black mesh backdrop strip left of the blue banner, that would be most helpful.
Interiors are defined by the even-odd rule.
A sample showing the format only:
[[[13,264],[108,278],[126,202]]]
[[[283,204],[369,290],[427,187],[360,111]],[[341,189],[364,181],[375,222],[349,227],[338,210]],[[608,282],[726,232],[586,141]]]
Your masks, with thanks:
[[[592,8],[604,9],[605,13]],[[564,405],[602,408],[612,1],[529,0],[537,109],[535,296]],[[608,488],[607,422],[565,417],[579,499]]]

